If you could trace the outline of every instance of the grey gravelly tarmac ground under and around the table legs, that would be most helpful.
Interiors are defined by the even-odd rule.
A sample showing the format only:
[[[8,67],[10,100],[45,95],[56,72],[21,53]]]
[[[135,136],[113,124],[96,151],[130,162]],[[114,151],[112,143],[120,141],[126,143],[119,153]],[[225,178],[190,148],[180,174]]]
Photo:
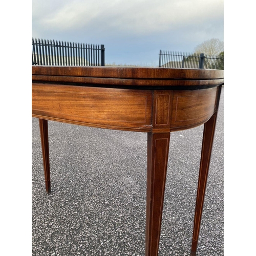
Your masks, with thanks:
[[[224,255],[223,93],[198,256]],[[48,129],[50,195],[32,118],[32,255],[143,256],[147,134],[54,121]],[[171,133],[159,256],[190,253],[202,133]]]

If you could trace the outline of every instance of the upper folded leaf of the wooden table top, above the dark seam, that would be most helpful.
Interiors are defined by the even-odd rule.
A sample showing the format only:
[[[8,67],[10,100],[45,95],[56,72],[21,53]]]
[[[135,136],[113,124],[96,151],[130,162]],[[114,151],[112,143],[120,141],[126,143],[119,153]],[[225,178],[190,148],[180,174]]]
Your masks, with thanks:
[[[223,79],[223,70],[143,67],[32,66],[32,75],[144,79]]]

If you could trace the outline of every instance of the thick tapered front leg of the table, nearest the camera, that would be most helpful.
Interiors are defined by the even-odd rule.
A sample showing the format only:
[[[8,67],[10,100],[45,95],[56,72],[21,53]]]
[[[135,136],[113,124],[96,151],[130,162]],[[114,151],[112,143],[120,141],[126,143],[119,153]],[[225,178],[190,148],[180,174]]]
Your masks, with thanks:
[[[146,253],[157,256],[170,133],[147,134]]]

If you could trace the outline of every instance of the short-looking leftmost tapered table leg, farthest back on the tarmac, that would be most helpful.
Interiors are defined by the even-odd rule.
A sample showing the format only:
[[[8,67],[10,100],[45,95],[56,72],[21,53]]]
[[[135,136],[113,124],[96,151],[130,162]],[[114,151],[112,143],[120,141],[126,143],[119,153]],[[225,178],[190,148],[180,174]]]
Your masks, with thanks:
[[[49,159],[49,141],[48,141],[48,121],[39,118],[40,137],[42,146],[42,160],[45,170],[46,191],[51,193],[50,182],[50,159]]]

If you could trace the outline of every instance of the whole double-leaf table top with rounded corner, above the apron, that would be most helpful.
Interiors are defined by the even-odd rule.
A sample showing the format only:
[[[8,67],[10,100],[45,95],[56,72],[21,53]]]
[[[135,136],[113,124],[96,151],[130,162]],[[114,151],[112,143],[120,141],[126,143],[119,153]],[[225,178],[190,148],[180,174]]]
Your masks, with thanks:
[[[217,86],[223,83],[223,70],[169,69],[140,67],[32,66],[32,80],[105,84],[126,88]]]

